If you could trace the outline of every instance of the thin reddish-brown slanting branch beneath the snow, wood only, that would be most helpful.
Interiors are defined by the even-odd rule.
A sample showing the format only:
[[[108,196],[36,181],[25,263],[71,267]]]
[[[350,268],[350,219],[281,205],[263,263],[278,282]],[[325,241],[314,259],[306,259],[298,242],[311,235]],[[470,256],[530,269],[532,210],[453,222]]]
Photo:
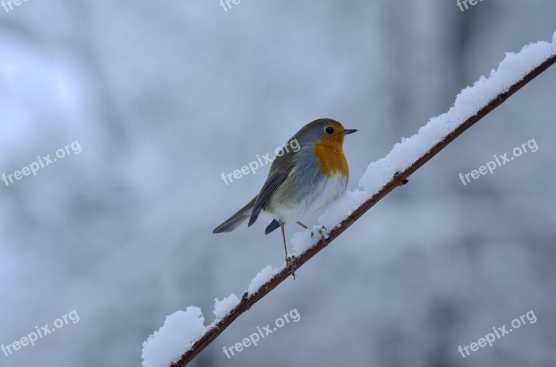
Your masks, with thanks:
[[[556,36],[555,36],[556,37]],[[507,89],[506,92],[498,94],[494,99],[492,99],[489,103],[484,105],[478,112],[473,114],[473,116],[468,117],[466,121],[461,123],[455,130],[451,133],[446,135],[440,142],[436,143],[432,148],[430,148],[427,153],[421,155],[417,160],[415,160],[412,164],[404,169],[404,171],[397,172],[393,178],[386,182],[382,186],[382,189],[379,189],[376,194],[371,196],[368,200],[366,200],[362,205],[357,207],[352,214],[347,216],[340,225],[336,226],[332,229],[329,233],[329,237],[327,239],[320,239],[318,243],[307,250],[305,250],[299,257],[295,258],[294,267],[295,269],[300,268],[303,264],[305,264],[311,257],[315,256],[319,253],[322,249],[324,249],[330,242],[334,241],[336,237],[338,237],[343,231],[350,227],[357,219],[359,219],[370,207],[373,207],[376,203],[379,202],[384,196],[389,194],[395,187],[404,184],[404,180],[406,180],[411,173],[417,171],[423,164],[428,162],[434,155],[438,154],[443,148],[448,146],[451,142],[453,142],[461,133],[464,133],[465,130],[473,126],[477,121],[482,119],[489,114],[492,110],[497,108],[501,105],[504,101],[506,101],[509,96],[512,96],[515,92],[517,92],[521,87],[529,83],[531,80],[539,76],[543,71],[548,69],[551,65],[556,62],[556,55],[553,54],[552,56],[548,57],[546,60],[541,62],[541,64],[527,74],[523,76],[521,80],[514,83]],[[232,309],[227,316],[224,316],[218,323],[210,327],[195,343],[193,343],[190,350],[188,350],[185,354],[181,356],[181,359],[177,361],[175,364],[172,364],[172,367],[183,367],[186,366],[195,356],[199,354],[208,344],[210,344],[221,332],[226,329],[236,318],[238,318],[241,314],[243,314],[247,309],[250,309],[252,305],[256,302],[261,300],[264,296],[266,296],[272,289],[275,289],[278,284],[284,282],[290,276],[290,272],[287,266],[281,269],[279,273],[274,275],[270,280],[265,282],[259,289],[252,293],[248,294],[245,292],[243,294],[243,298],[238,303],[234,309]]]

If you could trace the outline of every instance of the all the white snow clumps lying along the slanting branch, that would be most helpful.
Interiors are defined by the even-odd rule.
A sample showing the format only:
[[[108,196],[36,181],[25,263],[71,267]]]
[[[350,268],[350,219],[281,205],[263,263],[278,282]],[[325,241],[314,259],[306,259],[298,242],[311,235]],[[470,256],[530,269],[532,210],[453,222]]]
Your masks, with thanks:
[[[418,130],[418,133],[409,138],[402,138],[402,142],[395,144],[386,157],[369,164],[366,173],[359,180],[359,187],[354,191],[347,191],[340,200],[329,205],[324,214],[319,217],[319,225],[315,225],[313,231],[318,232],[322,226],[329,231],[339,225],[346,216],[376,194],[397,171],[407,169],[468,117],[479,111],[498,94],[506,92],[512,84],[521,80],[530,70],[554,54],[556,54],[556,32],[552,44],[537,42],[525,45],[519,53],[507,53],[498,69],[493,69],[488,78],[481,76],[472,87],[461,90],[448,112],[433,117]],[[311,237],[311,230],[295,233],[292,239],[294,255],[300,255],[319,239],[318,236]],[[263,268],[251,280],[248,293],[256,292],[280,270],[281,268],[273,268],[271,265]],[[235,294],[222,301],[215,298],[213,311],[217,318],[215,322],[226,316],[238,302]],[[143,343],[142,366],[170,366],[188,350],[187,345],[193,345],[193,342],[207,329],[198,307],[188,307],[185,312],[177,311],[167,316],[163,327]]]

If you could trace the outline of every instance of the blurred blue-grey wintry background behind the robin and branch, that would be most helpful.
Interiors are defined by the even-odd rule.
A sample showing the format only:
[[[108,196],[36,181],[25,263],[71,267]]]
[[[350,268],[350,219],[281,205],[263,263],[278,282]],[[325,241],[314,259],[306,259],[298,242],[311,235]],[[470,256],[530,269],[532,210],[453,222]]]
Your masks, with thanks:
[[[240,296],[284,262],[265,219],[216,225],[269,166],[225,185],[320,117],[356,128],[350,184],[450,108],[505,52],[552,40],[552,0],[36,1],[0,8],[0,343],[79,323],[0,366],[140,366],[189,305]],[[225,330],[190,366],[555,366],[552,67],[461,135]],[[535,139],[468,185],[458,178]],[[315,223],[306,223],[313,225]],[[300,230],[286,227],[288,237]],[[291,309],[300,321],[227,359]],[[457,351],[533,310],[465,359]]]

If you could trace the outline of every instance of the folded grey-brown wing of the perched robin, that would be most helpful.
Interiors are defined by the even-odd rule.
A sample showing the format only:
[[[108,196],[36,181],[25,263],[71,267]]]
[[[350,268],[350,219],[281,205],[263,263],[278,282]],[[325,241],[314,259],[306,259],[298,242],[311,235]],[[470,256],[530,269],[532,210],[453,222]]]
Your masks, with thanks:
[[[253,205],[253,211],[251,212],[251,218],[249,219],[248,226],[255,223],[256,219],[259,217],[259,213],[263,209],[263,205],[268,201],[270,196],[275,193],[275,191],[280,187],[284,180],[290,176],[291,172],[295,168],[295,152],[288,151],[284,155],[277,156],[272,166],[270,167],[270,173],[268,173],[268,178],[259,192]]]

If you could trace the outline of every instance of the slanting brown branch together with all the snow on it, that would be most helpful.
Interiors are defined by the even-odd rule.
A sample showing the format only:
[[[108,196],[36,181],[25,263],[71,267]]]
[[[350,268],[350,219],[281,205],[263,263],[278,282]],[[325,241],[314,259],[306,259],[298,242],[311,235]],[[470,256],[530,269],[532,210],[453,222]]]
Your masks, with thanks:
[[[556,62],[556,32],[553,42],[537,42],[523,47],[519,53],[507,53],[497,70],[488,78],[481,76],[473,87],[457,95],[452,108],[433,117],[418,133],[395,144],[386,157],[371,163],[359,180],[359,187],[347,191],[319,218],[318,232],[324,225],[332,228],[327,238],[311,238],[311,230],[293,237],[295,268],[334,241],[338,235],[357,221],[367,210],[390,191],[402,185],[445,146],[474,123],[501,105],[521,87],[536,78]],[[241,299],[231,294],[222,301],[215,299],[215,320],[204,325],[199,307],[188,307],[167,316],[164,325],[143,343],[143,367],[183,367],[210,344],[243,312],[289,277],[288,268],[267,266],[251,281]]]

